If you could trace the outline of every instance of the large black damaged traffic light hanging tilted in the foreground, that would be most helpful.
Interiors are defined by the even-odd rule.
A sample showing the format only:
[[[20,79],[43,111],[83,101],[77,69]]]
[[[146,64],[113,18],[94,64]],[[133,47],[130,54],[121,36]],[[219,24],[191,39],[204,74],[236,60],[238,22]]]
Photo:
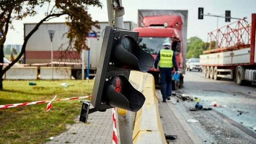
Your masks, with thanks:
[[[138,111],[145,97],[129,83],[130,70],[147,72],[155,60],[137,44],[138,32],[106,27],[91,96],[98,111],[123,108]]]

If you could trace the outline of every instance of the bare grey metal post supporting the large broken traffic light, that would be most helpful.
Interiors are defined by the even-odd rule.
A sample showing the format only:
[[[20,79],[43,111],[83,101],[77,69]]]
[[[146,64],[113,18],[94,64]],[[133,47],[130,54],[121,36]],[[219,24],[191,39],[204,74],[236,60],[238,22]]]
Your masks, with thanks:
[[[108,9],[108,17],[109,17],[109,26],[113,26],[113,3],[118,0],[107,0],[107,9]],[[122,0],[119,0],[120,6],[122,6]],[[124,28],[123,17],[115,18],[115,26]],[[118,113],[118,126],[119,126],[119,135],[121,144],[132,144],[132,125],[131,125],[131,117],[130,112],[127,111],[126,114],[120,115]]]

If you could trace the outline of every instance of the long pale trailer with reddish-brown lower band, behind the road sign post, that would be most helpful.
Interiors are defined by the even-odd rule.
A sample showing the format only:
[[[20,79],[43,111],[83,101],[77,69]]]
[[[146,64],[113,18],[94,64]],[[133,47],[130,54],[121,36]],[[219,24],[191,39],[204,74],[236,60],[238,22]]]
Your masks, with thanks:
[[[108,22],[99,22],[101,26],[100,29],[92,27],[92,30],[99,32],[99,37],[88,38],[87,44],[90,47],[90,75],[93,76],[96,73],[97,65],[99,62],[101,45],[103,40],[103,35],[105,27],[108,26]],[[24,24],[24,35],[26,36],[34,27],[35,23],[25,23]],[[131,21],[124,22],[124,28],[132,30],[136,27],[136,23]],[[65,49],[68,45],[68,38],[66,37],[66,32],[68,27],[64,23],[43,23],[38,30],[29,38],[26,46],[25,53],[25,63],[50,63],[51,62],[51,42],[48,34],[48,30],[55,30],[53,37],[53,57],[54,61],[62,62],[76,62],[82,63],[82,54],[76,53],[76,51],[68,51],[68,53],[63,54],[60,49],[61,46]],[[90,41],[90,42],[89,42]],[[85,60],[85,76],[87,72],[88,54],[84,54]],[[50,66],[50,64],[48,65]],[[57,65],[56,65],[57,66]],[[69,65],[70,66],[70,65]],[[72,75],[76,79],[82,79],[82,65],[71,65]],[[40,68],[39,68],[40,71]]]

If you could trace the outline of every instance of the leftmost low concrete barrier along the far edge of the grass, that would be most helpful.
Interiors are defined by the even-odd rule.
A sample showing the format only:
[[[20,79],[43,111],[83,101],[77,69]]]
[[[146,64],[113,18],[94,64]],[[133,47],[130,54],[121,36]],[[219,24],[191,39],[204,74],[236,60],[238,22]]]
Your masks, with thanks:
[[[37,79],[37,67],[11,67],[5,73],[6,80],[36,80]]]

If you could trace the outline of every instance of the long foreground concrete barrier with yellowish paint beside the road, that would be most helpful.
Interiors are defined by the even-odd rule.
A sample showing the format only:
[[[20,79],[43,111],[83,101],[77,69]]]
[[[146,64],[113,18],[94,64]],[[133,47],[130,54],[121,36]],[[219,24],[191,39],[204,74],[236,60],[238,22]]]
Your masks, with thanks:
[[[135,83],[135,88],[137,85],[138,89],[142,89],[142,93],[146,97],[143,107],[136,115],[133,129],[133,144],[167,144],[159,115],[159,99],[155,94],[153,75],[131,72],[129,81]]]

